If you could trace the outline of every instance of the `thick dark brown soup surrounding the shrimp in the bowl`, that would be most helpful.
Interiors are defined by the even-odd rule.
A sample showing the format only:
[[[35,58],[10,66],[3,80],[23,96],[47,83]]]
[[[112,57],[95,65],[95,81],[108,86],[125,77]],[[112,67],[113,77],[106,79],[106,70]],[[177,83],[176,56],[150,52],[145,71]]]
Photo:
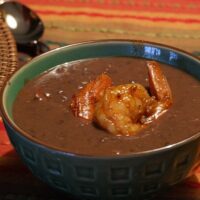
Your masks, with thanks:
[[[146,61],[109,57],[66,63],[29,81],[16,98],[16,124],[32,137],[84,155],[129,154],[160,148],[200,131],[200,84],[189,74],[161,64],[173,94],[172,107],[136,136],[114,136],[85,125],[70,110],[71,97],[102,72],[114,85],[132,81],[148,87]]]

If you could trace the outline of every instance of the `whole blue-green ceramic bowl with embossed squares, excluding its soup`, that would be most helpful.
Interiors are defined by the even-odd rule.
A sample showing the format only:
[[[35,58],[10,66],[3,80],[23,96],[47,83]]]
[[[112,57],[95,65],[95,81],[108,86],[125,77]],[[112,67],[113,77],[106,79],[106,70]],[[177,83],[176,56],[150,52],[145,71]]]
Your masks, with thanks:
[[[1,113],[10,140],[33,174],[80,199],[151,199],[174,185],[200,162],[200,133],[160,149],[110,157],[75,155],[31,138],[12,117],[12,105],[27,79],[56,65],[85,58],[129,56],[181,68],[200,79],[200,60],[175,48],[144,41],[96,41],[43,54],[18,70],[5,84]]]

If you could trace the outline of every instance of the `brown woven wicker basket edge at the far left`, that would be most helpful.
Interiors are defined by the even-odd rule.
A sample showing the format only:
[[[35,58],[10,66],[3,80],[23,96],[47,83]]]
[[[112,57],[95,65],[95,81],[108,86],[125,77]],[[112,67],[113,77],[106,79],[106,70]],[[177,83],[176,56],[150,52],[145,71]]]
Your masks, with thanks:
[[[15,40],[0,12],[0,90],[7,77],[17,69],[17,60]]]

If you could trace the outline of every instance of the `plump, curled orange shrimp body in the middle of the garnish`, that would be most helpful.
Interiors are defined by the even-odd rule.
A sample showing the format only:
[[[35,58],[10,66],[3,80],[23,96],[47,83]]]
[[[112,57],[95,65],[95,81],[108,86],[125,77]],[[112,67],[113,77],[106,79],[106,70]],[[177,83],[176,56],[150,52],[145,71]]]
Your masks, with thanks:
[[[145,125],[140,119],[150,99],[140,84],[112,86],[95,107],[94,121],[114,135],[132,135]]]

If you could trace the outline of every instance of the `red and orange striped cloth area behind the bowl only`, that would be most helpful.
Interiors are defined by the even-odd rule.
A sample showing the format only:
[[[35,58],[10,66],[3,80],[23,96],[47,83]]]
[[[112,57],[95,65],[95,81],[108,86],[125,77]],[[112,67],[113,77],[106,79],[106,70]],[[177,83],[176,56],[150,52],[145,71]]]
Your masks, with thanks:
[[[44,39],[74,43],[142,39],[200,50],[199,0],[22,0],[45,23]]]

